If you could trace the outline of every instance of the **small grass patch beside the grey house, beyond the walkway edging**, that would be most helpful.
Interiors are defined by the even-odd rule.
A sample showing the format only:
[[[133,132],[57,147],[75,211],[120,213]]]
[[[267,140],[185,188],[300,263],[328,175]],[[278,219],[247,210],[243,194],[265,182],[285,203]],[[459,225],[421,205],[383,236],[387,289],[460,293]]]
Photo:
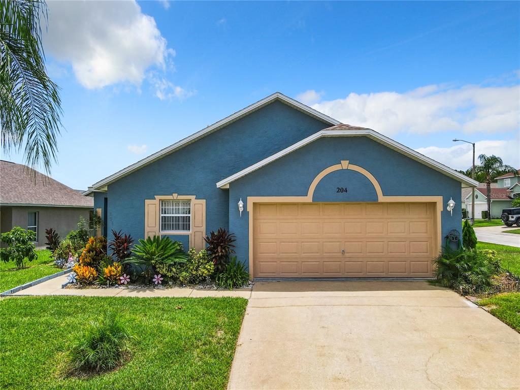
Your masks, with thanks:
[[[26,268],[18,269],[14,262],[0,262],[0,292],[60,271],[54,266],[50,251],[44,249],[36,252],[38,257],[32,262],[25,262]]]

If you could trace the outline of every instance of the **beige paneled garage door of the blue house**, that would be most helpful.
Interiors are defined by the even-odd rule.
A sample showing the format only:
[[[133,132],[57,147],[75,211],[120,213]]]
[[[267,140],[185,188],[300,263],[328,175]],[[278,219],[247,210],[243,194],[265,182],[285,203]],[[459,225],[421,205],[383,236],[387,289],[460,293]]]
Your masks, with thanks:
[[[430,277],[433,203],[255,203],[255,278]]]

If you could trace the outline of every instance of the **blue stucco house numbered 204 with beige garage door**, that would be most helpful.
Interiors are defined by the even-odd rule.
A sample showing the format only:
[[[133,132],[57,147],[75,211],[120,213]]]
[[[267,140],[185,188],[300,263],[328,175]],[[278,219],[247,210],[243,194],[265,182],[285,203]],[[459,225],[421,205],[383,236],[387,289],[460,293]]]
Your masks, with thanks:
[[[105,231],[135,239],[202,249],[228,229],[254,278],[431,277],[448,232],[461,230],[461,184],[478,183],[275,93],[85,194]]]

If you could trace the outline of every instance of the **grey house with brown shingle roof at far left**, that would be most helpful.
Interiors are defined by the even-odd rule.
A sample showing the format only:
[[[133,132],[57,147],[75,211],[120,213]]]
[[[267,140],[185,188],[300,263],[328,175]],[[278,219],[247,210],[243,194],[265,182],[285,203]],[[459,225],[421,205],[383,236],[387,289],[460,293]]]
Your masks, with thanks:
[[[45,246],[45,229],[61,238],[77,229],[83,216],[88,223],[94,201],[58,181],[37,173],[36,183],[27,167],[9,161],[0,165],[0,231],[15,226],[36,232],[36,246]]]

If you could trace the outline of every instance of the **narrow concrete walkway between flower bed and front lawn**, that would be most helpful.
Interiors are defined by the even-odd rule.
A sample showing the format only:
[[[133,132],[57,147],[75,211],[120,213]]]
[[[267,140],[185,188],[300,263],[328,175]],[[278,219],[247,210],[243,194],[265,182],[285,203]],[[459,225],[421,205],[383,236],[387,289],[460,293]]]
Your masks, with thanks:
[[[251,289],[238,290],[197,290],[191,288],[165,288],[165,289],[62,289],[61,285],[67,283],[67,275],[47,280],[12,295],[79,295],[79,296],[137,296],[137,297],[220,297],[239,296],[249,298]]]

